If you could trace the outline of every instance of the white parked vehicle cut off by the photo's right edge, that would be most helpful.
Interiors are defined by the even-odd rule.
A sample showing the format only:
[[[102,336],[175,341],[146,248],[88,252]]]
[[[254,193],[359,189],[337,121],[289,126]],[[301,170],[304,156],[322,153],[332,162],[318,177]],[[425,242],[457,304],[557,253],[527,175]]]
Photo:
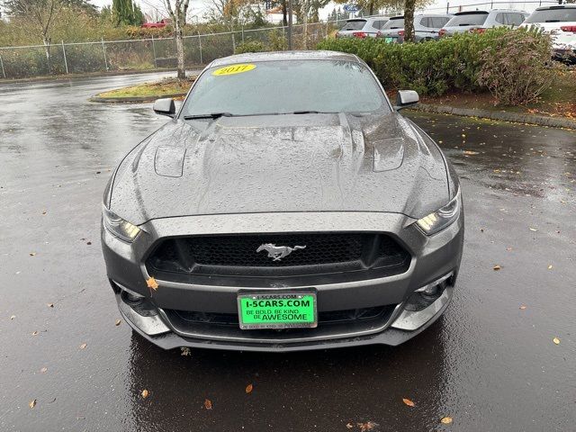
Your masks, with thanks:
[[[536,27],[550,33],[556,56],[576,60],[576,4],[539,7],[522,27]]]

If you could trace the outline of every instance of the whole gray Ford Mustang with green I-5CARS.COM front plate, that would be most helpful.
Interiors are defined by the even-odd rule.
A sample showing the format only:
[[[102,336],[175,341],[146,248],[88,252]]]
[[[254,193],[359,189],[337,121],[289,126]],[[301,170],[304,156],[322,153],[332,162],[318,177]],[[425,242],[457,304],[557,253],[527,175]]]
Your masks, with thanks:
[[[446,310],[464,241],[455,171],[356,56],[220,58],[103,196],[122,317],[159,347],[398,345]]]

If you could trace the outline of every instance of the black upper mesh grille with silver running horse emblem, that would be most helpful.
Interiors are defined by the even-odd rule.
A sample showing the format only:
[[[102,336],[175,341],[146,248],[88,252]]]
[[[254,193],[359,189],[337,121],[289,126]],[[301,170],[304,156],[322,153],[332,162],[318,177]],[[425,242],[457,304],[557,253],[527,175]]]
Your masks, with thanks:
[[[291,247],[292,250],[283,257],[281,249],[275,247]],[[147,266],[153,275],[159,271],[184,275],[276,277],[405,266],[408,257],[396,241],[377,233],[194,236],[166,238],[148,258]]]

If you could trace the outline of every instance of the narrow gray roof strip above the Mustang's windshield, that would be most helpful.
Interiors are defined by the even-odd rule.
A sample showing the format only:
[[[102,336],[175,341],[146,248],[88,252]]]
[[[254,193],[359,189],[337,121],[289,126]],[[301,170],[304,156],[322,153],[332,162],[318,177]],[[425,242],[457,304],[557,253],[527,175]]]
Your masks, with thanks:
[[[209,67],[234,65],[257,61],[283,61],[283,60],[346,60],[361,63],[354,54],[336,51],[276,51],[276,52],[247,52],[234,56],[217,58]]]

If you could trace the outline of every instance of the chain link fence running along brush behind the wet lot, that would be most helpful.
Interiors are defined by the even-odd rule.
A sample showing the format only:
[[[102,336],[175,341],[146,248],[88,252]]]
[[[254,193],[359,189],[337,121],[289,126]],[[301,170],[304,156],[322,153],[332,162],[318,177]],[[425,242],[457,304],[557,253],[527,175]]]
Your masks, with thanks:
[[[303,25],[293,26],[293,48],[312,49],[338,22],[310,23],[304,43]],[[286,49],[287,27],[267,27],[196,34],[184,37],[186,67],[199,67],[215,58],[229,56],[239,43],[258,40],[272,49]],[[85,74],[108,71],[157,70],[176,67],[174,38],[100,40],[95,42],[0,47],[0,79]]]

